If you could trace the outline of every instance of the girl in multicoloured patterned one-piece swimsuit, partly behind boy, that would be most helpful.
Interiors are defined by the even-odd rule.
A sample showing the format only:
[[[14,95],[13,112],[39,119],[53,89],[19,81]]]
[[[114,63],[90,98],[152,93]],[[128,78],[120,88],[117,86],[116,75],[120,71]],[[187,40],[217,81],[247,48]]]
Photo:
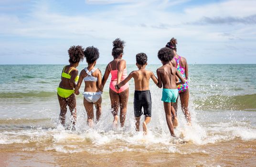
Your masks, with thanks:
[[[177,54],[177,48],[176,48],[177,40],[175,38],[171,38],[170,42],[167,43],[166,47],[169,47],[174,52],[174,58],[171,60],[171,63],[174,67],[177,68],[177,70],[180,72],[181,76],[188,80],[189,73],[188,73],[188,63],[187,60],[184,57],[181,57]],[[188,109],[189,106],[189,84],[186,82],[185,84],[181,84],[177,86],[177,89],[179,91],[180,99],[181,99],[181,110],[183,111],[187,122],[189,125],[191,125],[191,116]],[[178,109],[178,100],[176,103],[173,104],[173,107],[176,111],[177,115],[177,109]]]

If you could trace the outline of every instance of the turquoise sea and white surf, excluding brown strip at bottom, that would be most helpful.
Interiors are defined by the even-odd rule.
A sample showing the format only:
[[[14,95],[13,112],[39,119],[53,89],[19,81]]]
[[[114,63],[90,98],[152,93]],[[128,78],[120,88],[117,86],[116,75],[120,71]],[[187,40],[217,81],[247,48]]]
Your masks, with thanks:
[[[83,95],[77,99],[76,131],[69,132],[58,124],[60,112],[56,88],[64,65],[0,65],[0,145],[22,144],[24,150],[56,151],[61,153],[88,152],[109,154],[122,151],[180,154],[201,149],[212,143],[234,143],[256,140],[256,64],[253,65],[189,65],[190,104],[192,127],[186,124],[178,109],[179,126],[176,136],[190,144],[176,146],[166,125],[161,99],[161,89],[150,81],[152,95],[152,120],[149,135],[135,132],[133,113],[134,83],[131,80],[125,127],[113,129],[111,123],[108,85],[104,88],[102,118],[90,129],[83,106]],[[85,67],[81,64],[78,69]],[[97,65],[102,73],[106,65]],[[148,65],[156,72],[160,64]],[[136,70],[127,66],[128,73]],[[82,84],[80,93],[83,92]],[[179,104],[179,103],[178,103]],[[66,115],[69,126],[70,113]],[[141,119],[142,121],[142,119]],[[68,142],[66,142],[68,141]],[[72,146],[69,143],[73,143]],[[238,142],[238,143],[239,143]],[[149,147],[150,146],[150,147]],[[23,148],[24,147],[24,148]],[[100,148],[100,149],[99,149]],[[115,148],[115,149],[112,149]]]

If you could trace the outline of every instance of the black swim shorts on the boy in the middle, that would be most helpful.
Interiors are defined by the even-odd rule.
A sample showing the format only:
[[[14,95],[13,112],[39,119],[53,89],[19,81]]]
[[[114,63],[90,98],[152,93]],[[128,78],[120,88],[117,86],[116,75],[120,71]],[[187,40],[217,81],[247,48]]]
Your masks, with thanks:
[[[151,94],[149,90],[146,91],[135,91],[134,92],[134,115],[135,117],[141,116],[142,107],[145,116],[151,117]]]

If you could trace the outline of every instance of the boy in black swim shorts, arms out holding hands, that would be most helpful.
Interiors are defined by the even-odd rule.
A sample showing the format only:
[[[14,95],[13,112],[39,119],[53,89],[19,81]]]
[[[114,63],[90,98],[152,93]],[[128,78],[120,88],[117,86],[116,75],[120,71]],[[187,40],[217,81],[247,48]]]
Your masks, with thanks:
[[[149,91],[149,79],[151,78],[155,84],[158,84],[158,80],[155,75],[145,69],[147,65],[148,57],[145,53],[139,53],[136,55],[136,65],[139,68],[137,71],[131,72],[128,77],[120,84],[116,85],[116,89],[125,85],[131,78],[134,78],[135,92],[134,92],[134,115],[136,118],[136,131],[139,131],[139,121],[142,113],[142,107],[144,109],[145,121],[143,122],[143,131],[147,135],[147,124],[151,119],[151,95]]]

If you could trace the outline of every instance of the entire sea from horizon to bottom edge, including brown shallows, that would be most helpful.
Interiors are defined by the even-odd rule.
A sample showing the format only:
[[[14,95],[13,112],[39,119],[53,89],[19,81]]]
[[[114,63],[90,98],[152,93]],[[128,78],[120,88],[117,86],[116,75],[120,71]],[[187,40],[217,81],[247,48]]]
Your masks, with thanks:
[[[124,128],[113,129],[108,85],[102,118],[86,125],[82,84],[76,131],[58,124],[58,84],[64,65],[0,65],[0,166],[255,166],[256,64],[190,64],[186,124],[180,104],[176,136],[168,130],[161,89],[150,81],[149,133],[135,132],[134,82]],[[78,66],[79,72],[86,67]],[[106,65],[96,65],[104,73]],[[156,73],[160,64],[146,69]],[[127,66],[128,73],[137,66]],[[180,102],[179,102],[180,103]],[[96,119],[96,118],[95,118]],[[141,123],[142,123],[141,119]],[[66,115],[66,126],[71,123]],[[142,127],[140,127],[142,130]]]

